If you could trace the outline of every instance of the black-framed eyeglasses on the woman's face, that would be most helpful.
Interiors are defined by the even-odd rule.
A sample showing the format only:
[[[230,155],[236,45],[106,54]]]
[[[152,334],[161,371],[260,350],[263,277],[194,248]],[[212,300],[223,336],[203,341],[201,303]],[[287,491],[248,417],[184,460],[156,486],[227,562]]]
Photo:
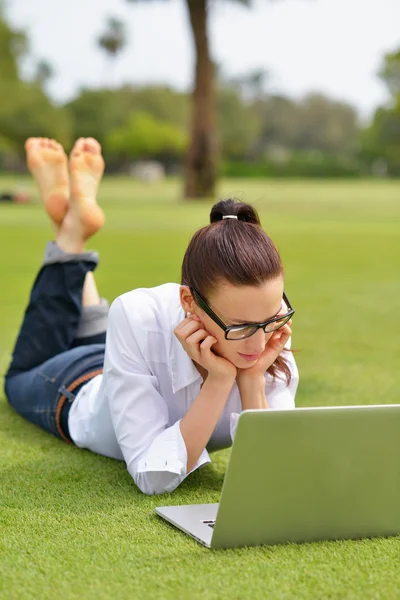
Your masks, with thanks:
[[[193,287],[190,287],[190,291],[193,294],[194,299],[197,304],[204,310],[204,312],[216,323],[221,329],[225,331],[225,339],[226,340],[244,340],[245,338],[254,335],[256,331],[259,329],[263,329],[265,333],[272,333],[277,329],[280,329],[288,321],[290,321],[291,317],[294,315],[294,309],[289,302],[286,294],[283,294],[283,301],[286,306],[289,308],[289,312],[284,315],[278,315],[272,319],[268,319],[264,323],[245,323],[244,325],[225,325],[225,323],[215,314],[215,312],[210,308],[204,298],[197,292]]]

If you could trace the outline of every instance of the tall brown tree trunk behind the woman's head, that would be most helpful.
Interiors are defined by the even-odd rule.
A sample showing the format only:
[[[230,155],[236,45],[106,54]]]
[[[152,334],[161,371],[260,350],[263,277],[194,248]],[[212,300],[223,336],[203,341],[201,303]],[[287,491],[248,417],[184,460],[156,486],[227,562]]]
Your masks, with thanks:
[[[208,0],[186,0],[196,51],[191,139],[186,157],[185,198],[214,196],[217,178],[214,65],[207,37]]]

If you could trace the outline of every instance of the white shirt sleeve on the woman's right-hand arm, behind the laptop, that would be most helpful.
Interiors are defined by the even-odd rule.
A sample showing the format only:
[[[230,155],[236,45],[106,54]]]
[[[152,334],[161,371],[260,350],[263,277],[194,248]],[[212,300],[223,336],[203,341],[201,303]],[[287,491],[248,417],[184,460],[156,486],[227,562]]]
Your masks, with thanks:
[[[291,341],[290,338],[285,346],[288,350],[291,347]],[[294,399],[299,385],[299,370],[292,352],[285,352],[285,360],[291,373],[289,385],[286,383],[286,378],[282,379],[281,377],[276,377],[273,379],[268,373],[265,376],[265,396],[267,398],[268,408],[270,409],[290,410],[295,408]],[[231,414],[230,433],[232,442],[235,437],[239,417],[239,413]]]

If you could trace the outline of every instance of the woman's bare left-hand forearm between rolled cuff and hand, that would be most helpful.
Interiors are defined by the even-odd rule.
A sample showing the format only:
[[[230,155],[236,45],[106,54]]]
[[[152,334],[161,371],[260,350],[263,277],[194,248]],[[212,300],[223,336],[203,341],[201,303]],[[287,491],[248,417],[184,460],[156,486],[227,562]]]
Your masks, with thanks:
[[[206,379],[199,395],[180,422],[187,451],[187,471],[198,461],[221,416],[234,380]]]

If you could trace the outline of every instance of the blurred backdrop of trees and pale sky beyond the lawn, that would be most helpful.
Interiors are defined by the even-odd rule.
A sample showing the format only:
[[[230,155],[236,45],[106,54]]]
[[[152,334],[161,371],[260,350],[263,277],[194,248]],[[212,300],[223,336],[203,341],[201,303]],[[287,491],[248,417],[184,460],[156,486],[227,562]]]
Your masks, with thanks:
[[[397,0],[3,0],[0,171],[29,136],[93,136],[109,173],[187,198],[399,176],[399,22]]]

